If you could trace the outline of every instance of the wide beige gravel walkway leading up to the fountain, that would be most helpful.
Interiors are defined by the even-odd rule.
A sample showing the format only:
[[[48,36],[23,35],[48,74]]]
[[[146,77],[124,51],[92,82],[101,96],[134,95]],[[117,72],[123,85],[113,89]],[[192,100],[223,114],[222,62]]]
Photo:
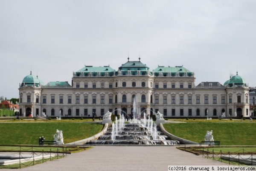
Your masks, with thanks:
[[[167,171],[168,165],[227,165],[175,146],[94,146],[24,171]],[[1,169],[1,171],[10,171]]]

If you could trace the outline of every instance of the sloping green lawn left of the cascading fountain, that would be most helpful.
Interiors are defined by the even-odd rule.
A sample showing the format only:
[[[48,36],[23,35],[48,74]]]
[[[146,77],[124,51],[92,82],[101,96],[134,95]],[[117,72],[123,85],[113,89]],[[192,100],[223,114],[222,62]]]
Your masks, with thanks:
[[[99,133],[103,125],[86,122],[2,122],[0,144],[38,145],[40,136],[53,141],[56,130],[62,130],[64,143],[74,142]]]

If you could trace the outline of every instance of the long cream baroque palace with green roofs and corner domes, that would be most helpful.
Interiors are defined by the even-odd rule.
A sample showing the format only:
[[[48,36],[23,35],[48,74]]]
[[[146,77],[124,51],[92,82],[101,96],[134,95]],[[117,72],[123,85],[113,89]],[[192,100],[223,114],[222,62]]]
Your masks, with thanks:
[[[238,74],[223,85],[201,82],[183,66],[158,66],[128,61],[118,70],[110,66],[84,66],[73,72],[72,84],[44,84],[27,75],[19,87],[20,115],[48,117],[102,116],[107,111],[143,113],[159,111],[164,117],[249,117],[249,88]],[[136,101],[136,105],[134,105]]]

